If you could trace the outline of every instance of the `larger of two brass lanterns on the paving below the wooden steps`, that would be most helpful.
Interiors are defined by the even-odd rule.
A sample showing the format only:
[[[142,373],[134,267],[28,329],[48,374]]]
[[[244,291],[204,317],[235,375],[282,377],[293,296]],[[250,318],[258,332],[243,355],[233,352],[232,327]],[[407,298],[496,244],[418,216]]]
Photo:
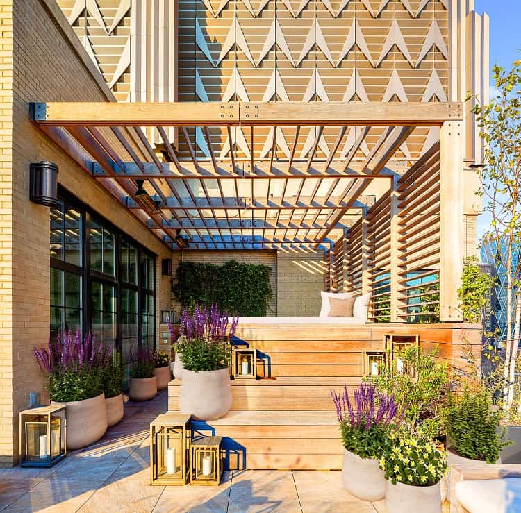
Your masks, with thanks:
[[[186,485],[190,437],[190,415],[165,413],[151,422],[151,485]]]

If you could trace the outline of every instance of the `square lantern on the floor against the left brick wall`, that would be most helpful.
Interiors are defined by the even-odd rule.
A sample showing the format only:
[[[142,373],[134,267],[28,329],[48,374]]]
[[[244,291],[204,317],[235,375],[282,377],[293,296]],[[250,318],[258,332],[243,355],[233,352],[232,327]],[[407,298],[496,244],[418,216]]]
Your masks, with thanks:
[[[65,406],[40,406],[20,412],[20,466],[53,466],[67,454]]]

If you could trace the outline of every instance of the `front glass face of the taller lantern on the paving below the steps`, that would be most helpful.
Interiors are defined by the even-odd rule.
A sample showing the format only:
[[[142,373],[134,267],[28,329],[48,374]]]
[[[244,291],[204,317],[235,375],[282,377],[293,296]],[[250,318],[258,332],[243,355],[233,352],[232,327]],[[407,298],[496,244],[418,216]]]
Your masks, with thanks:
[[[185,475],[183,430],[161,428],[156,434],[156,463],[158,478],[183,478]]]

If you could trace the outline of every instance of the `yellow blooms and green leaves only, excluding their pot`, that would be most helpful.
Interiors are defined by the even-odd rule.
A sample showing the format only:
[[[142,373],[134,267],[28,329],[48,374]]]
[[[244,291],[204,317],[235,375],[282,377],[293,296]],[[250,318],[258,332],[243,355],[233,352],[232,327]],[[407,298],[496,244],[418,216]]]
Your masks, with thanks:
[[[436,485],[447,471],[447,453],[433,441],[418,439],[403,430],[392,430],[380,468],[393,485]]]

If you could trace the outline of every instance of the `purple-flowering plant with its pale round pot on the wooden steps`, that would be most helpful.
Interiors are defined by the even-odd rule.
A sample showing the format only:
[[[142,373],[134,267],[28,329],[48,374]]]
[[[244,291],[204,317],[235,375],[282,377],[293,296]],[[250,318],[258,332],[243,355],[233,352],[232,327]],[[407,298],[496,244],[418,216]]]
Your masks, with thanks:
[[[176,350],[183,359],[183,381],[179,410],[195,419],[219,419],[231,408],[229,337],[235,332],[235,317],[229,319],[215,306],[211,310],[196,305],[190,315],[181,315],[181,336]]]

